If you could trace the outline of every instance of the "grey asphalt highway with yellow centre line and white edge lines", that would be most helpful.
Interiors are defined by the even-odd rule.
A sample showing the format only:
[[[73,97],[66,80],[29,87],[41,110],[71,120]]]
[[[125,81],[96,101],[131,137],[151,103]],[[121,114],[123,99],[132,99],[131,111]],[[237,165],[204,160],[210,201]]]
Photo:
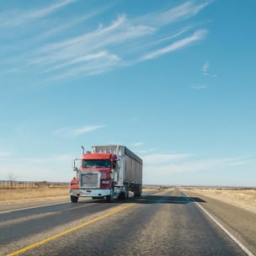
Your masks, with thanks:
[[[179,189],[173,189],[110,204],[81,200],[77,204],[64,202],[21,211],[0,211],[0,255],[255,253],[256,241],[248,241],[248,237],[239,232],[240,227],[236,236],[243,237],[243,242],[248,241],[249,252],[237,245],[198,204],[204,209],[205,205],[213,211],[219,209],[215,201],[198,195],[188,197]],[[225,211],[234,211],[225,205]],[[214,212],[215,218],[218,211]]]

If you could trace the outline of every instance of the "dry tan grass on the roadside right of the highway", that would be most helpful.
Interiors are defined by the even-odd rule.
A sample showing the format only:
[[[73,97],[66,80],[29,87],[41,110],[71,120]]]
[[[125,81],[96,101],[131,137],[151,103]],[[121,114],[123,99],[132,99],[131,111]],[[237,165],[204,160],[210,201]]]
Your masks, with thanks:
[[[256,213],[256,189],[189,189]]]

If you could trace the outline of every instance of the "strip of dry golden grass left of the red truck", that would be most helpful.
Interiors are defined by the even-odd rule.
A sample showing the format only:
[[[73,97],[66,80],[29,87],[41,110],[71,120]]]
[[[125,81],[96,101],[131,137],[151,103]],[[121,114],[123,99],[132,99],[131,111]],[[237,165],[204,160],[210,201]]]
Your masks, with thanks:
[[[1,189],[0,201],[35,200],[38,198],[57,197],[68,195],[67,188],[40,188],[40,189]]]

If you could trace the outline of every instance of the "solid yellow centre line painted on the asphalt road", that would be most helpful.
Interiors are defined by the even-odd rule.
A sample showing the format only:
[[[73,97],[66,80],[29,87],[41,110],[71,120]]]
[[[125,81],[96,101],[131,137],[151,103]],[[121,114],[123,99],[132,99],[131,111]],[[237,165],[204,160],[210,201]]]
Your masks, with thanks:
[[[111,216],[111,215],[115,214],[116,212],[123,211],[123,210],[125,210],[125,209],[127,209],[127,208],[129,208],[129,207],[131,207],[133,205],[135,205],[135,203],[125,204],[125,206],[118,206],[115,209],[113,209],[112,211],[109,211],[108,213],[104,214],[103,216],[98,216],[98,217],[94,218],[91,221],[84,222],[83,224],[80,224],[80,225],[78,225],[76,227],[72,227],[70,229],[67,229],[66,231],[60,232],[60,233],[58,233],[58,234],[56,234],[56,235],[54,235],[52,237],[45,238],[44,240],[42,240],[40,242],[33,243],[33,244],[31,244],[31,245],[29,245],[27,247],[19,249],[18,251],[15,251],[13,253],[9,253],[8,256],[16,256],[16,255],[19,255],[21,253],[25,253],[25,252],[33,249],[33,248],[39,247],[40,245],[43,245],[45,243],[49,243],[49,242],[51,242],[51,241],[53,241],[53,240],[55,240],[55,239],[57,239],[59,237],[63,237],[63,236],[65,236],[65,235],[67,235],[67,234],[69,234],[71,232],[75,232],[79,228],[86,227],[86,226],[88,226],[90,224],[93,224],[93,223],[95,223],[97,221],[103,220],[104,218],[106,218],[108,216]]]

